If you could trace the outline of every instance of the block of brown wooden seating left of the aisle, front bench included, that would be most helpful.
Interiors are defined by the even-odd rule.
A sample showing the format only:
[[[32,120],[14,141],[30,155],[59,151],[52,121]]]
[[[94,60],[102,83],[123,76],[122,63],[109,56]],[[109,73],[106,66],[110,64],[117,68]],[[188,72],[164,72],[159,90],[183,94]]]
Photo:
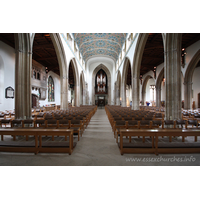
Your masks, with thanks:
[[[32,119],[3,117],[0,151],[71,154],[96,110],[96,106],[84,106],[39,112]]]

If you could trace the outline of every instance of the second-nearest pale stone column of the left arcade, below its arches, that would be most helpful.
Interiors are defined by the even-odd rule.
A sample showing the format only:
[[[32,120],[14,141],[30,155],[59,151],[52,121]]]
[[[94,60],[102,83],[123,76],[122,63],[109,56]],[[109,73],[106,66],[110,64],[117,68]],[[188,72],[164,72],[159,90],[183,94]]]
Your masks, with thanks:
[[[61,82],[61,110],[68,110],[68,78],[60,77]]]

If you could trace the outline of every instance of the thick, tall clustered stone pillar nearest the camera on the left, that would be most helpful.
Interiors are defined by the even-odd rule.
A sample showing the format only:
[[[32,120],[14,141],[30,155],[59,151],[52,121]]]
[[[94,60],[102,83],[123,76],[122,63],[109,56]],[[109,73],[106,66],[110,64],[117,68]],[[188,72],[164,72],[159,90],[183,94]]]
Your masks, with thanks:
[[[26,33],[15,35],[15,119],[30,119],[32,52]]]

